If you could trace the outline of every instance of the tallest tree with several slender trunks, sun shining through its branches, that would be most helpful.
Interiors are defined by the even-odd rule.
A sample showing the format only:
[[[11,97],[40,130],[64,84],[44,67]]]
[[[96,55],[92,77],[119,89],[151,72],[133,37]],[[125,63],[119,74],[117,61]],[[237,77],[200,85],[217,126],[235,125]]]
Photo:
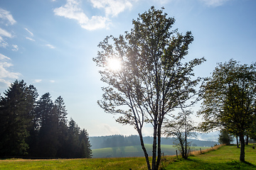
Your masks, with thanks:
[[[110,85],[102,88],[104,94],[98,103],[107,113],[121,114],[117,122],[134,126],[148,169],[158,169],[164,117],[196,95],[194,87],[200,79],[191,79],[193,67],[204,59],[182,62],[193,35],[171,30],[174,18],[168,18],[163,10],[152,6],[132,23],[130,33],[119,38],[107,36],[98,45],[102,51],[93,60],[104,68],[100,70],[101,80]],[[122,66],[111,68],[113,61]],[[151,165],[142,138],[144,123],[153,126]]]

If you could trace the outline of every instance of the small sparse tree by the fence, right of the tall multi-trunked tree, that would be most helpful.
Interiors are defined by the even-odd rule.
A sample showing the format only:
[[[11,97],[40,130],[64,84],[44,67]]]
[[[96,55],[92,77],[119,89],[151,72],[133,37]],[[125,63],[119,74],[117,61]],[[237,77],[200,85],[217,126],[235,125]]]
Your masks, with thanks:
[[[174,117],[173,121],[169,121],[164,126],[164,134],[167,137],[175,137],[178,142],[174,144],[178,147],[181,152],[181,156],[184,159],[188,158],[190,143],[188,142],[188,137],[196,136],[196,127],[193,126],[193,121],[190,118],[192,114],[191,111],[183,111],[178,113]]]

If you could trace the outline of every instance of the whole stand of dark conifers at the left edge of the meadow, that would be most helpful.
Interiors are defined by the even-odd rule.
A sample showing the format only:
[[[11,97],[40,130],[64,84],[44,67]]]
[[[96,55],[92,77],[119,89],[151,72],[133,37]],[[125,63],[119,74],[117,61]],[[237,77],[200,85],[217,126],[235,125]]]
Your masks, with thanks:
[[[0,157],[92,157],[87,130],[67,115],[61,96],[38,99],[35,86],[14,81],[0,97]]]

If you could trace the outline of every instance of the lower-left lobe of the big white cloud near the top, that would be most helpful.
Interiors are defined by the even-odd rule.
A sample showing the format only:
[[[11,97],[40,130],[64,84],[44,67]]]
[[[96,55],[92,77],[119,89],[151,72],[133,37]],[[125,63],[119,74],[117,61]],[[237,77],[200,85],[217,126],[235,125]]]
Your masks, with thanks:
[[[79,0],[67,0],[67,4],[65,4],[65,6],[55,8],[53,12],[56,16],[63,16],[65,18],[78,21],[80,26],[87,30],[107,27],[107,18],[102,16],[92,16],[92,18],[89,19],[82,11],[82,8],[80,8],[80,4]]]

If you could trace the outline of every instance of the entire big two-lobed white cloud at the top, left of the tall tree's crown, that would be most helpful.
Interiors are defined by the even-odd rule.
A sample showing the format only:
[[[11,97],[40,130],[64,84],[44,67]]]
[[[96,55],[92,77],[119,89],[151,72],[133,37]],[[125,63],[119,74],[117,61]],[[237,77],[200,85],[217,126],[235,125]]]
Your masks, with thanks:
[[[67,3],[60,8],[55,8],[53,12],[56,16],[74,19],[78,21],[82,28],[86,30],[96,30],[108,28],[110,25],[110,16],[117,16],[122,11],[132,8],[132,1],[136,0],[90,0],[94,8],[103,9],[105,16],[92,16],[88,18],[82,10],[80,0],[67,0]]]

